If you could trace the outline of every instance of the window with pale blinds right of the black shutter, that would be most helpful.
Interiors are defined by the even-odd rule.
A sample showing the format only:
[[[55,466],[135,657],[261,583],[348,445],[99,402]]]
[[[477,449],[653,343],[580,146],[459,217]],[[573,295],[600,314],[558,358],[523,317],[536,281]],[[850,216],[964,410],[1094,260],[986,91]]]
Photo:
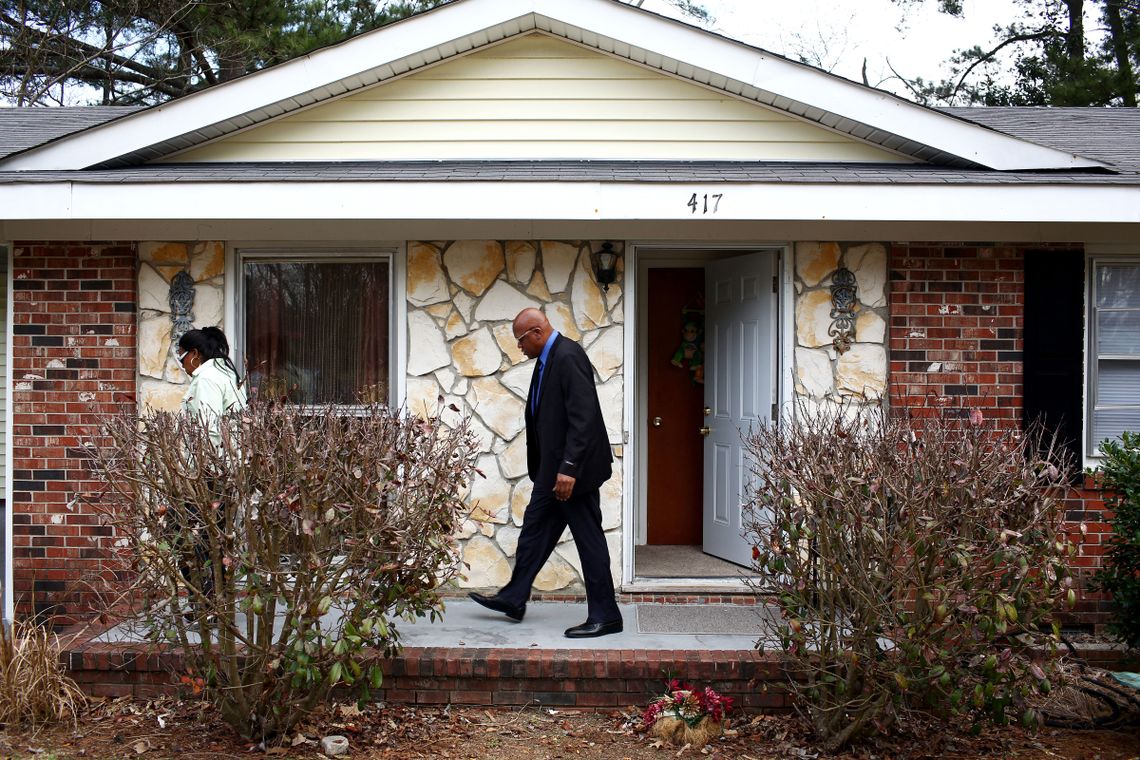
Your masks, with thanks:
[[[1140,431],[1140,259],[1094,260],[1090,319],[1090,451]]]

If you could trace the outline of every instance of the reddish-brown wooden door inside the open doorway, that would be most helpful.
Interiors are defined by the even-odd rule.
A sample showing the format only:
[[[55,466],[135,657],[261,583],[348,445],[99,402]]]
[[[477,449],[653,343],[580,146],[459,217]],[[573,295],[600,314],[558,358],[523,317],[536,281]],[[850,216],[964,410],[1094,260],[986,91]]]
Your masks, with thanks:
[[[649,270],[646,542],[701,544],[705,390],[684,354],[685,309],[700,309],[701,268]],[[698,341],[700,337],[698,336]],[[674,361],[679,360],[677,367]],[[698,357],[699,360],[699,357]]]

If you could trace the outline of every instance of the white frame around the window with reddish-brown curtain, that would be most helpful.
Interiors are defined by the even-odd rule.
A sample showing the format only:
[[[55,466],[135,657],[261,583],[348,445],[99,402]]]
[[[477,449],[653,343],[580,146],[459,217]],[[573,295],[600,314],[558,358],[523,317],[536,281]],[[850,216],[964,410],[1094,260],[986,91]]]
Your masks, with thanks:
[[[404,256],[402,244],[347,246],[347,245],[298,245],[238,243],[227,246],[226,278],[226,324],[234,326],[231,337],[234,362],[245,365],[245,272],[250,261],[269,263],[388,263],[388,403],[393,409],[405,397],[404,351],[407,318],[404,313],[405,273],[400,265]],[[353,404],[340,408],[351,410]]]

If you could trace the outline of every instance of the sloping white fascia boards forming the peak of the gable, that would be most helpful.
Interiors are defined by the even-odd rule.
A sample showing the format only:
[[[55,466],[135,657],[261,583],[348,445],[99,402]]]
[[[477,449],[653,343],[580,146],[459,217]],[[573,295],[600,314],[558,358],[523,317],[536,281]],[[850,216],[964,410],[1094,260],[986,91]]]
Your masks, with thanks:
[[[329,87],[481,31],[570,27],[792,97],[996,170],[1104,166],[1020,140],[614,0],[458,0],[292,62],[0,161],[7,170],[92,166]],[[699,63],[698,63],[699,62]]]

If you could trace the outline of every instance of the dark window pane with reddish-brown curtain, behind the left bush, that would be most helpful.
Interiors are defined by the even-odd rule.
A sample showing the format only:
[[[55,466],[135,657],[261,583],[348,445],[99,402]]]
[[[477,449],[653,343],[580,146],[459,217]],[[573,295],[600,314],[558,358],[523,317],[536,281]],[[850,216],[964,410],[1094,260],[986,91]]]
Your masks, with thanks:
[[[389,401],[386,260],[242,267],[251,387],[303,404]]]

